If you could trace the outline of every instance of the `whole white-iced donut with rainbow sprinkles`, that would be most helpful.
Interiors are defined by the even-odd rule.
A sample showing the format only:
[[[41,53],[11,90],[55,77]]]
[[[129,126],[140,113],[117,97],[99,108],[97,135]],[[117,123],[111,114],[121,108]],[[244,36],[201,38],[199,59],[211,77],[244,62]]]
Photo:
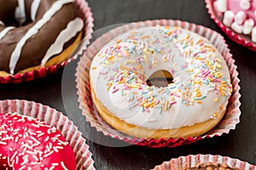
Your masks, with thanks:
[[[232,85],[224,57],[206,38],[179,26],[144,26],[97,52],[90,91],[102,119],[118,131],[177,139],[218,124]]]

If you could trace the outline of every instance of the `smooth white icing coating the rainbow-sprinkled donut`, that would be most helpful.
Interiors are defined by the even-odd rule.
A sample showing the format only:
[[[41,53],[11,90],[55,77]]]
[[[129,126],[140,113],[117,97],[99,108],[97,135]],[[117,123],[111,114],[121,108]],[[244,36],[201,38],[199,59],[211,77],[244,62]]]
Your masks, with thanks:
[[[173,28],[171,27],[169,29],[171,31]],[[113,115],[118,116],[119,119],[125,122],[152,129],[191,126],[195,123],[205,122],[211,119],[214,113],[220,111],[220,106],[225,107],[227,105],[227,100],[230,96],[230,73],[221,54],[219,54],[217,50],[205,50],[201,53],[197,53],[200,48],[206,48],[201,47],[201,43],[196,43],[199,42],[202,37],[194,32],[180,29],[180,31],[177,31],[177,37],[172,39],[172,35],[166,36],[166,33],[163,33],[165,31],[168,31],[168,29],[164,27],[144,27],[128,31],[114,38],[113,41],[108,42],[108,44],[96,54],[91,63],[90,82],[96,94],[96,99],[98,99],[102,105],[106,106],[108,111],[113,113]],[[139,35],[139,37],[135,35]],[[179,41],[188,37],[188,35],[190,36],[189,39],[194,43],[185,46],[183,42]],[[133,39],[129,40],[130,37],[133,37]],[[118,40],[122,41],[117,45],[116,42]],[[187,42],[189,43],[190,40],[187,40]],[[207,45],[207,47],[213,48],[212,44],[205,38],[203,38],[203,43]],[[148,47],[155,49],[154,54],[148,52],[133,53],[135,50]],[[113,48],[115,49],[113,50]],[[161,53],[155,52],[157,51],[156,49],[159,49]],[[119,52],[119,50],[123,52]],[[125,51],[129,50],[131,50],[131,52],[127,54]],[[191,54],[186,54],[188,51],[190,51]],[[144,57],[145,55],[147,58]],[[202,59],[195,59],[194,55]],[[214,56],[214,59],[217,58],[218,60],[214,65],[219,65],[219,63],[221,65],[218,71],[222,74],[222,77],[218,78],[218,81],[226,81],[229,86],[225,92],[225,96],[216,88],[220,86],[220,82],[203,82],[200,77],[201,73],[199,72],[210,71],[204,63],[207,60],[204,59],[206,56],[208,56],[209,58],[207,59],[210,60],[212,60],[212,56]],[[153,67],[152,63],[154,63]],[[130,86],[135,86],[135,88],[124,90],[125,84],[123,82],[113,82],[114,85],[108,89],[107,84],[111,82],[111,80],[123,80],[121,77],[127,74],[117,71],[120,65],[129,67],[131,70],[138,68],[137,74],[129,73],[129,76],[125,76],[124,80],[127,81],[129,77],[132,77],[133,79],[129,80],[127,83]],[[139,65],[141,65],[141,67],[138,67]],[[157,88],[153,86],[150,88],[148,84],[143,83],[155,71],[160,70],[166,70],[172,73],[174,81],[169,87]],[[141,74],[145,76],[143,80],[139,78]],[[196,74],[199,74],[199,76],[195,77],[194,75]],[[192,83],[196,81],[201,81],[201,85]],[[137,83],[139,84],[137,85],[138,87],[136,86]],[[116,90],[116,88],[122,90]],[[190,97],[187,96],[189,105],[186,105],[186,97],[184,97],[184,99],[181,97],[185,94],[184,89],[186,88],[189,89],[189,94],[191,94]],[[198,101],[195,96],[196,88],[200,88],[201,95],[205,97],[201,99],[201,104],[196,102]],[[215,90],[213,90],[213,88]],[[164,93],[160,93],[161,90],[164,91]],[[134,94],[136,94],[135,99],[132,99]],[[154,107],[148,107],[148,111],[146,111],[142,110],[143,107],[140,103],[134,103],[137,99],[149,94],[155,96],[153,101],[159,101],[160,108],[162,109],[160,109],[158,105],[155,105]],[[165,105],[167,100],[168,102],[171,101],[169,94],[177,95],[177,97],[172,95],[176,103],[172,103],[170,108],[164,110],[162,105]],[[143,98],[146,99],[147,97]],[[218,101],[215,101],[215,99],[218,99]]]

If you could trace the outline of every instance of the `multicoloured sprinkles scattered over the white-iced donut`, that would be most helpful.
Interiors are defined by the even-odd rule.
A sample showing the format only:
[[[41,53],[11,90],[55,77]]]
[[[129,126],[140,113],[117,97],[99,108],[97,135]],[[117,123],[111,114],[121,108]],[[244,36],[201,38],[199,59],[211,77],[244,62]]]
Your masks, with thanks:
[[[224,64],[218,59],[215,48],[209,42],[202,37],[195,39],[189,33],[181,39],[178,38],[183,32],[178,26],[155,29],[159,31],[157,37],[133,31],[126,36],[127,39],[118,39],[114,45],[97,54],[97,57],[102,58],[101,65],[106,68],[106,71],[99,74],[108,76],[108,91],[114,95],[128,96],[129,109],[139,105],[141,111],[147,113],[151,109],[158,109],[159,113],[168,111],[180,101],[186,106],[201,105],[208,93],[221,94],[225,98],[230,96],[230,81],[220,72]],[[165,51],[166,47],[173,44],[175,46],[172,50]],[[186,60],[183,65],[172,63],[174,49],[181,51],[180,57]],[[149,70],[159,66],[154,55],[161,56],[162,62],[172,65],[169,72],[174,79],[167,87],[149,87],[146,83],[145,65],[148,65]],[[125,59],[125,63],[112,68],[113,63],[119,62],[120,58]],[[95,70],[96,66],[92,68]],[[110,71],[114,72],[113,75],[108,75],[109,68],[112,68]],[[179,77],[179,71],[185,72],[186,76]],[[212,102],[218,100],[216,97]]]

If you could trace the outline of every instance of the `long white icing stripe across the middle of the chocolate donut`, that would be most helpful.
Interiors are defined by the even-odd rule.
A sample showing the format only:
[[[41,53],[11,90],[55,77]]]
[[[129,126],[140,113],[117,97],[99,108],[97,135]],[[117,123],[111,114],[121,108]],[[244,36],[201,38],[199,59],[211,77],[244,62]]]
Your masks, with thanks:
[[[15,72],[15,66],[20,58],[21,49],[25,45],[26,41],[32,37],[33,35],[37,34],[39,29],[44,26],[51,18],[52,16],[58,12],[61,7],[66,3],[72,3],[72,0],[60,0],[53,3],[53,5],[44,13],[44,16],[41,20],[38,20],[38,22],[32,26],[28,31],[26,31],[26,34],[24,37],[20,39],[20,42],[17,43],[15,50],[11,54],[10,61],[9,61],[9,70],[11,74],[14,74]]]

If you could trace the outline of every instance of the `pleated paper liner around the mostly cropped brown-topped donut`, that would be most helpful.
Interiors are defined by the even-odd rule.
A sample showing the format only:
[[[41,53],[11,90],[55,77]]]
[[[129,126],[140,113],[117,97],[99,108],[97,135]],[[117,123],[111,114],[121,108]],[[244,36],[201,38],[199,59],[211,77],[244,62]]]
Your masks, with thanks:
[[[226,164],[229,167],[237,167],[243,170],[255,170],[256,166],[251,165],[246,161],[241,161],[239,159],[230,158],[228,156],[212,156],[212,155],[189,155],[189,156],[180,156],[178,158],[172,159],[171,161],[164,161],[161,165],[154,167],[154,170],[181,170],[188,167],[196,167],[201,163],[221,163]]]

